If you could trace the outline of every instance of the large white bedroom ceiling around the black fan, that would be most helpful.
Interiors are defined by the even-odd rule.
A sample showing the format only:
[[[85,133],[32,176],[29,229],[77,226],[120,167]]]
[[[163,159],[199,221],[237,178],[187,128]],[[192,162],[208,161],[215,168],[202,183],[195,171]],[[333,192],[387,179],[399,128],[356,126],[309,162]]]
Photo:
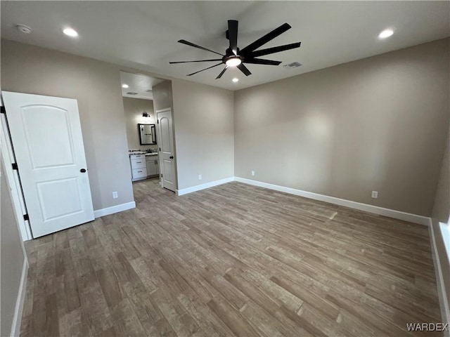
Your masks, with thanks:
[[[231,90],[450,35],[449,1],[1,1],[0,6],[6,39]],[[248,65],[249,77],[234,68],[216,80],[221,66],[186,77],[214,63],[169,65],[215,58],[179,39],[224,53],[229,19],[239,20],[240,48],[284,22],[293,28],[262,48],[297,41],[302,46],[264,57],[282,61],[279,66]],[[19,32],[17,24],[32,27],[32,33]],[[63,26],[75,28],[79,37],[65,37]],[[387,27],[395,34],[379,40]],[[302,66],[282,67],[294,61]],[[240,81],[232,83],[233,77]]]

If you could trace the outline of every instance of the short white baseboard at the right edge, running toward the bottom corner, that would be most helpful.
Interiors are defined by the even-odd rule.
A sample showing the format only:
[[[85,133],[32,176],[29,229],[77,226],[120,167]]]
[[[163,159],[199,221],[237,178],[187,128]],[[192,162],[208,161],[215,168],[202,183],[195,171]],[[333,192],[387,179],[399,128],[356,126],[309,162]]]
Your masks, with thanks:
[[[439,225],[439,224],[437,224]],[[435,275],[437,284],[437,294],[439,296],[439,306],[441,307],[442,323],[450,324],[450,306],[446,296],[446,289],[444,284],[444,273],[441,268],[441,261],[439,259],[439,253],[436,246],[435,231],[433,230],[433,223],[430,219],[428,226],[428,232],[430,233],[431,251],[433,256],[433,264],[435,265]],[[440,232],[440,231],[439,231]],[[449,337],[449,331],[444,332],[445,337]]]

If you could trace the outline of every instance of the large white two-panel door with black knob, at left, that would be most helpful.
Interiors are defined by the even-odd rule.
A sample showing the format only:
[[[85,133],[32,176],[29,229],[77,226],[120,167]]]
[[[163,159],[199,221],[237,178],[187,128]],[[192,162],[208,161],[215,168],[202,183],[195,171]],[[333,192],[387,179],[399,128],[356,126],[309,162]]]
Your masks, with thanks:
[[[77,100],[1,95],[33,237],[94,220]]]

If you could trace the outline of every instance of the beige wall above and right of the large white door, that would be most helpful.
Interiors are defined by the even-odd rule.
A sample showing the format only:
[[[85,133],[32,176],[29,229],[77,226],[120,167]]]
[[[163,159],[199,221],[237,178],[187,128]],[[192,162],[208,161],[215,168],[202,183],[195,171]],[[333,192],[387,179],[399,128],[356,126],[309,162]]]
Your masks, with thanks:
[[[94,210],[134,201],[118,66],[2,39],[1,88],[77,99]]]

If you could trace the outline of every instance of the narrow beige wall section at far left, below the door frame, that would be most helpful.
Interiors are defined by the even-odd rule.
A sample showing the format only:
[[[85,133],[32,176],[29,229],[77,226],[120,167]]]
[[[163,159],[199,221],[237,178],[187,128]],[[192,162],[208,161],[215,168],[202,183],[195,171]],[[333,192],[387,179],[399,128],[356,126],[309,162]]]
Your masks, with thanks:
[[[18,298],[20,277],[22,275],[25,256],[22,250],[22,239],[18,231],[17,221],[13,213],[11,192],[8,189],[1,161],[0,180],[0,240],[1,240],[1,330],[0,336],[9,336],[15,303]]]

